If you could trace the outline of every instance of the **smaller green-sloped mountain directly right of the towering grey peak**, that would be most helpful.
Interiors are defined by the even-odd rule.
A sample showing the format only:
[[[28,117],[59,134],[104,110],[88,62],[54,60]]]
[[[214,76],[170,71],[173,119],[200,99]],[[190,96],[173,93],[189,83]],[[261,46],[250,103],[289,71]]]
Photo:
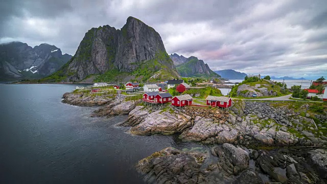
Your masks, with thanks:
[[[171,54],[170,58],[176,64],[176,69],[182,77],[220,77],[203,60],[199,60],[197,57],[185,58],[178,54]]]

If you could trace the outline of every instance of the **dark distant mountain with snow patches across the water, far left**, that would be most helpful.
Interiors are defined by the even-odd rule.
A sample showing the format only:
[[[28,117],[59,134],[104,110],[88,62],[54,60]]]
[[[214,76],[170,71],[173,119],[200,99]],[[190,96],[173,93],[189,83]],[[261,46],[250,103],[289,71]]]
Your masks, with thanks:
[[[34,48],[22,42],[0,44],[0,80],[42,78],[56,72],[71,57],[47,43]]]

